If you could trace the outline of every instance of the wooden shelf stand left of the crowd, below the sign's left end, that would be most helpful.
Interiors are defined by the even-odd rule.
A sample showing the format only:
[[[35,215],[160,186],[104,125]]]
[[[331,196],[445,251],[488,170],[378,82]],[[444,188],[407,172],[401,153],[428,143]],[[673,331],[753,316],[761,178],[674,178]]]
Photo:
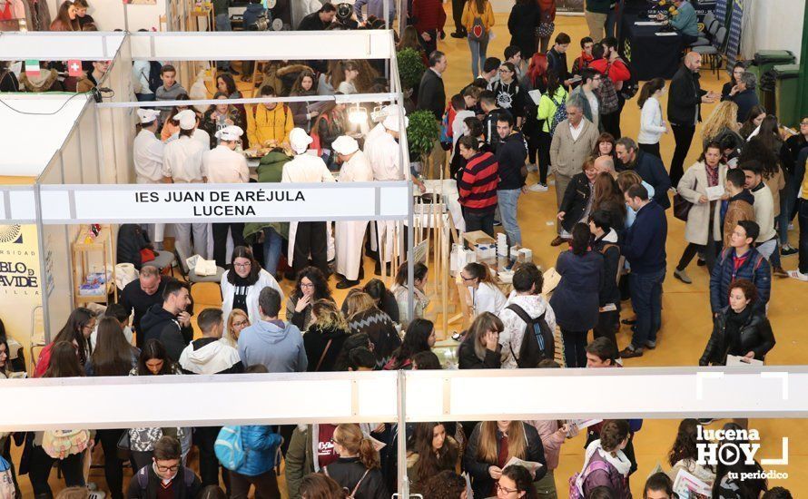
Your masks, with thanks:
[[[118,289],[115,286],[115,267],[111,265],[115,259],[113,256],[113,243],[112,243],[112,230],[110,227],[103,226],[98,232],[98,235],[92,241],[87,241],[89,238],[89,230],[79,232],[78,237],[73,243],[73,270],[74,270],[74,303],[76,307],[83,307],[86,303],[106,303],[109,300],[110,294],[113,295],[114,301],[118,300]],[[94,270],[90,264],[93,259],[93,253],[100,253],[95,255],[94,258],[100,258],[101,273],[106,275],[107,269],[110,270],[110,277],[104,278],[103,294],[100,295],[86,295],[81,293],[81,286],[84,284],[87,276]],[[97,269],[96,269],[97,270]]]

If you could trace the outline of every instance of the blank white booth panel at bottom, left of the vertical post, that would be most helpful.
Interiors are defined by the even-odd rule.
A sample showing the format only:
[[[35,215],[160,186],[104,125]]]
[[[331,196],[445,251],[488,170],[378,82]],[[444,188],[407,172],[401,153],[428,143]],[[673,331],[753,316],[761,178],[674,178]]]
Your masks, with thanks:
[[[8,380],[4,396],[14,397],[15,410],[0,412],[0,431],[391,422],[396,379],[379,372]],[[87,399],[103,404],[75,403]],[[59,410],[43,410],[43,400]]]

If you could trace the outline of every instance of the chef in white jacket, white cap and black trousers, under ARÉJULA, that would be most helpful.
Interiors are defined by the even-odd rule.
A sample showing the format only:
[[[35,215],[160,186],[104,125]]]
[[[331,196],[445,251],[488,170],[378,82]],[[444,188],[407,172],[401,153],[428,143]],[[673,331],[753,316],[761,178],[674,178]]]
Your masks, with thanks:
[[[308,133],[301,128],[292,129],[289,133],[291,150],[294,159],[283,165],[282,183],[300,182],[332,182],[325,162],[319,156],[307,153],[312,142]],[[291,268],[295,275],[309,265],[309,257],[314,267],[325,274],[330,274],[328,261],[328,231],[325,221],[293,221],[289,224],[289,256]]]

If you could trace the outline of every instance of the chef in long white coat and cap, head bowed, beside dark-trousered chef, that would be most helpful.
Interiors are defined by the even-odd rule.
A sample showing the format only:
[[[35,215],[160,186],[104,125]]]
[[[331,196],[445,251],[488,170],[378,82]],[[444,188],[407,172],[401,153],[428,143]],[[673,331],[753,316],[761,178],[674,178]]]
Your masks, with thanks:
[[[342,163],[340,182],[373,181],[373,169],[360,145],[348,135],[342,135],[331,144]],[[345,279],[337,284],[338,289],[348,289],[360,283],[362,266],[362,242],[368,220],[339,220],[337,226],[337,273]]]

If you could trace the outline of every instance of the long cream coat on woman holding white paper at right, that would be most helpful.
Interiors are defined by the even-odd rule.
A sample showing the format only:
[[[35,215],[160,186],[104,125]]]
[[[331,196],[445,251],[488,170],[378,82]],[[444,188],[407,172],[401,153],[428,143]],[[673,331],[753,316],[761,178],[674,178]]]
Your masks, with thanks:
[[[726,181],[726,165],[718,165],[718,185]],[[713,240],[721,238],[721,201],[698,202],[699,198],[707,195],[707,170],[705,163],[699,161],[685,171],[685,175],[676,186],[676,191],[685,200],[693,203],[687,213],[685,223],[685,240],[694,244],[707,244],[708,224],[710,222],[710,205],[714,205],[713,213]]]

